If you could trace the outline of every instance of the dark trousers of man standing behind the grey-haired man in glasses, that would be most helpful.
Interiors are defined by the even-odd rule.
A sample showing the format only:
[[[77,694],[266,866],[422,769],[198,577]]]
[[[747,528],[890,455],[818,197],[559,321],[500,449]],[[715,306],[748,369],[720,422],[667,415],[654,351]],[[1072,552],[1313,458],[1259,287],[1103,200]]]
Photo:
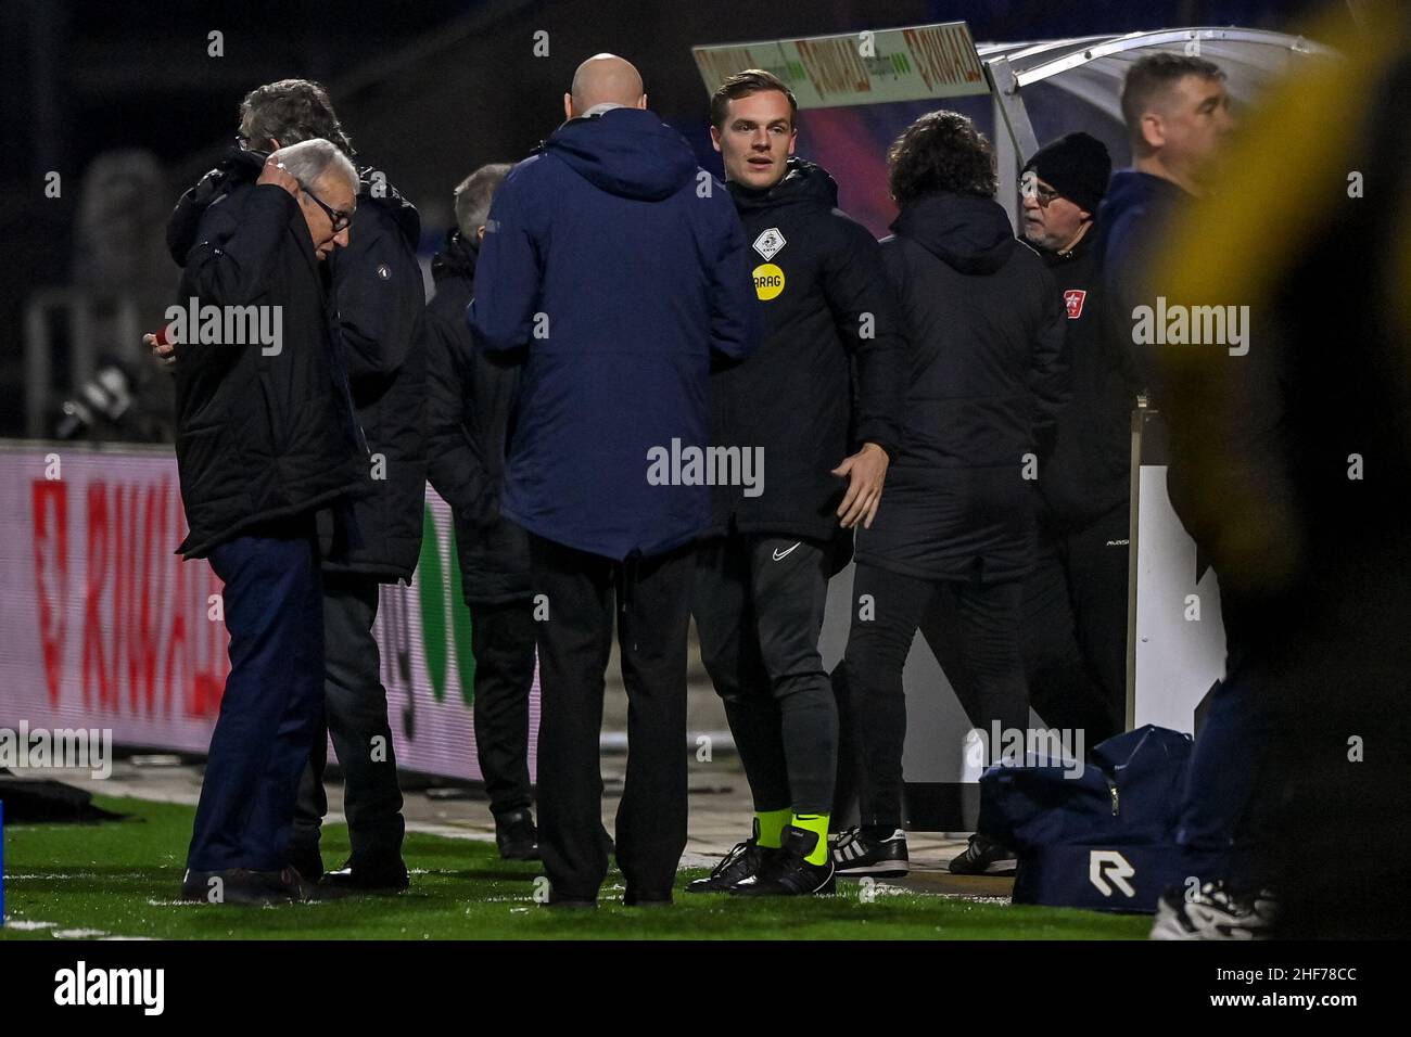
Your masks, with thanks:
[[[387,689],[373,624],[377,622],[375,577],[329,573],[323,577],[323,712],[326,727],[313,739],[299,783],[291,855],[319,852],[319,831],[329,800],[323,790],[327,742],[343,766],[343,813],[353,845],[351,863],[381,866],[402,856],[402,790],[396,782],[392,728],[387,722]]]

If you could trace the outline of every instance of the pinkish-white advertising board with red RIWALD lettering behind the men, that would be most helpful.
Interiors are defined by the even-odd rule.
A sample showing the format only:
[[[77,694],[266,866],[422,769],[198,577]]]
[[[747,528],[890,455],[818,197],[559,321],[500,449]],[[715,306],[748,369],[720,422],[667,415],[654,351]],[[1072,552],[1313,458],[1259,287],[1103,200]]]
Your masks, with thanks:
[[[229,636],[220,580],[172,553],[186,522],[171,450],[0,443],[0,727],[205,752]],[[470,614],[430,488],[416,576],[382,587],[375,633],[399,766],[480,779]],[[529,710],[533,775],[538,674]]]

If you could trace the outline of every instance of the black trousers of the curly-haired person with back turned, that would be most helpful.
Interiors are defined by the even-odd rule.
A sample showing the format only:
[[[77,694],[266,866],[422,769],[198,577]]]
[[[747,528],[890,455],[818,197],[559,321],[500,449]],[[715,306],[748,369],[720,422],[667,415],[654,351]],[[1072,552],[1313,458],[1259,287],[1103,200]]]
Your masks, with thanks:
[[[864,825],[902,825],[902,667],[917,629],[974,727],[986,732],[995,721],[1017,731],[1029,727],[1029,689],[1019,655],[1022,590],[1019,581],[931,581],[858,566],[842,666]],[[871,611],[861,611],[869,605]]]

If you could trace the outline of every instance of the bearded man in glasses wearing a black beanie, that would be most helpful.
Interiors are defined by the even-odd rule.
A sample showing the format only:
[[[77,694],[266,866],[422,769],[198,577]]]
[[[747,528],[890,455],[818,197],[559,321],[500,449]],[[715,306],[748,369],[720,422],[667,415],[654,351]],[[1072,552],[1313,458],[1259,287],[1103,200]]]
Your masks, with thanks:
[[[1044,722],[1082,729],[1088,745],[1122,729],[1126,701],[1132,402],[1095,298],[1095,220],[1110,174],[1102,141],[1071,133],[1040,148],[1020,175],[1024,238],[1043,254],[1068,313],[1074,394],[1038,470],[1024,666]]]

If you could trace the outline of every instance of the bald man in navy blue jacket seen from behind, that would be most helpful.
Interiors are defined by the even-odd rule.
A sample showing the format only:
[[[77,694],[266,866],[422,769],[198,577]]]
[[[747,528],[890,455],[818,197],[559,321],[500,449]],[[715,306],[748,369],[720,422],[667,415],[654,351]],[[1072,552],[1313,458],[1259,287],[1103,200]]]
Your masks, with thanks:
[[[549,903],[595,904],[607,875],[614,598],[631,700],[617,859],[626,903],[669,903],[686,847],[690,545],[710,522],[693,451],[708,442],[711,350],[756,347],[758,302],[729,193],[646,110],[636,69],[590,58],[563,103],[567,121],[495,195],[468,316],[480,348],[525,351],[502,514],[531,535]]]

